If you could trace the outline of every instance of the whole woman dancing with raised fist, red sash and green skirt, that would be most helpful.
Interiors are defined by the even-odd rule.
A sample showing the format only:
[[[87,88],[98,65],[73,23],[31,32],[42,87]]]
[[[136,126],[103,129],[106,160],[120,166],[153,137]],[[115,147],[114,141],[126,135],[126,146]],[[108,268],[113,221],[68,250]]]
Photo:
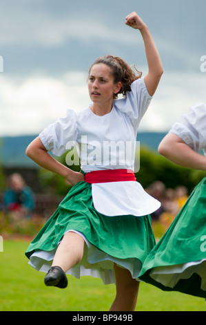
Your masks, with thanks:
[[[80,113],[68,110],[65,118],[43,130],[26,151],[41,167],[74,185],[30,243],[26,252],[30,264],[48,272],[47,286],[65,288],[65,274],[92,275],[105,284],[116,283],[110,310],[134,310],[136,306],[136,278],[155,244],[148,214],[160,206],[136,182],[127,144],[136,142],[138,124],[163,67],[150,31],[136,12],[126,17],[125,24],[141,32],[147,75],[135,75],[119,57],[96,59],[88,77],[92,104]],[[123,98],[116,99],[119,93]],[[79,148],[81,173],[48,154],[51,150],[60,156],[72,141]],[[111,141],[118,148],[105,150]],[[134,154],[134,147],[131,150]]]

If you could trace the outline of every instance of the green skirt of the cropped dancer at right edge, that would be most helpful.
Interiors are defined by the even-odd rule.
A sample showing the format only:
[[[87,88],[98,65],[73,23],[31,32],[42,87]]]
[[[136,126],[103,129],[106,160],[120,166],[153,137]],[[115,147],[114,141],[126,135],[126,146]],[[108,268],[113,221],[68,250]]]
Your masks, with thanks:
[[[143,264],[139,279],[206,298],[206,178]]]

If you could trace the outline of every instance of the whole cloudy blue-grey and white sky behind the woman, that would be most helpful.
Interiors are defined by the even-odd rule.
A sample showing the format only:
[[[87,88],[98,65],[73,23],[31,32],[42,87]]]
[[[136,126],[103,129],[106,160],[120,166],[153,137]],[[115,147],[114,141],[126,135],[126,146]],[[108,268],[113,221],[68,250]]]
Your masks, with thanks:
[[[38,134],[67,109],[90,104],[87,71],[117,55],[143,76],[145,21],[164,73],[139,131],[169,131],[195,102],[206,102],[205,0],[0,0],[0,137]]]

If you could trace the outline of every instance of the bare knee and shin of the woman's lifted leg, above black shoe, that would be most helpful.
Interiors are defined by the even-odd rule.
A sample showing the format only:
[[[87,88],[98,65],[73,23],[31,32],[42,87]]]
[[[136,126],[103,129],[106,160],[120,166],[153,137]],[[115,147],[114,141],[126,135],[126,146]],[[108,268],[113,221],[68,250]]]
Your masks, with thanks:
[[[67,272],[83,257],[84,239],[76,232],[66,232],[56,250],[52,266],[60,266]]]

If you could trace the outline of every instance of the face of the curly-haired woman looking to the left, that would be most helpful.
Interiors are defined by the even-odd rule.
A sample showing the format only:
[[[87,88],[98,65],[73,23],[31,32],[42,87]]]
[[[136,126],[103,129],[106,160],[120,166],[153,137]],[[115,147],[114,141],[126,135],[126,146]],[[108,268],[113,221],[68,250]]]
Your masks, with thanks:
[[[118,93],[121,89],[121,82],[114,84],[109,66],[102,63],[94,64],[89,75],[88,89],[94,104],[111,106],[114,93]]]

